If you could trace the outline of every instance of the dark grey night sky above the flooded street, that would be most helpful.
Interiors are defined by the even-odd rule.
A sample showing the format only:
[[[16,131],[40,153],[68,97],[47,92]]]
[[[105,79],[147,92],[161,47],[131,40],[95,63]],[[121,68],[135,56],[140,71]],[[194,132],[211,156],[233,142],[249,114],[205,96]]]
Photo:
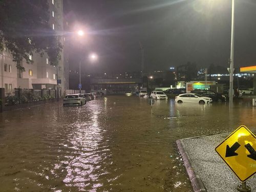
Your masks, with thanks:
[[[70,30],[78,23],[86,26],[90,33],[82,45],[99,55],[97,63],[83,63],[88,71],[140,70],[139,41],[146,71],[167,70],[188,61],[198,68],[210,63],[228,66],[231,0],[63,1]],[[255,21],[256,1],[235,0],[235,68],[256,65]],[[73,46],[75,50],[78,42],[73,41]],[[78,57],[72,54],[71,61],[78,62]]]

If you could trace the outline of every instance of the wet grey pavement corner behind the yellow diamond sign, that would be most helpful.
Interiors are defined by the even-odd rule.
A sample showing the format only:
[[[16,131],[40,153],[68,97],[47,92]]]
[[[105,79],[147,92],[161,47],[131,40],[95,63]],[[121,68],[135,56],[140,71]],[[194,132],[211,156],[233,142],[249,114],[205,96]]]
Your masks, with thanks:
[[[253,131],[253,130],[252,130]],[[239,179],[215,152],[230,133],[177,140],[184,166],[194,191],[234,192]],[[256,191],[256,175],[247,180],[251,191]]]

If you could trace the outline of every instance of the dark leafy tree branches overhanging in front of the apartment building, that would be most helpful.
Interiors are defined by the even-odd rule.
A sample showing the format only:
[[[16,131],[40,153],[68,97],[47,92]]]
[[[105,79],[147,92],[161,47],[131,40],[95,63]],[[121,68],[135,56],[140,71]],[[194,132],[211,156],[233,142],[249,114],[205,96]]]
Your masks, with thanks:
[[[0,50],[9,49],[16,67],[33,62],[33,52],[47,53],[51,65],[60,60],[62,45],[59,36],[49,24],[50,12],[46,0],[0,0]]]

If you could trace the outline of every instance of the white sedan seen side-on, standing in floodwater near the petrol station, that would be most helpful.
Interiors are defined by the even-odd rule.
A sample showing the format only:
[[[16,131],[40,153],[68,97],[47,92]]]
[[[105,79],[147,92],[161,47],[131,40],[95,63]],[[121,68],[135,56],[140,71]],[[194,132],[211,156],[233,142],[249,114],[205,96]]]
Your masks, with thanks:
[[[175,102],[177,103],[195,102],[199,104],[204,104],[204,103],[211,103],[212,99],[210,97],[204,97],[202,95],[198,95],[194,93],[185,93],[175,97]]]

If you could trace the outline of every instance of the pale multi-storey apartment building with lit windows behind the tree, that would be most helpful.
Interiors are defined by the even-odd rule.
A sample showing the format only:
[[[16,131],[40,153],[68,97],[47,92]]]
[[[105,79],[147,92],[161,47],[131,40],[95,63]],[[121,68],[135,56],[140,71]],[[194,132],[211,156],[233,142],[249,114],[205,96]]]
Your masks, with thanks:
[[[50,20],[53,30],[57,34],[63,34],[63,2],[62,0],[48,0]],[[65,37],[61,36],[61,44],[65,47]],[[33,63],[23,60],[20,64],[25,68],[25,72],[20,72],[16,68],[16,63],[12,61],[12,55],[7,48],[0,52],[0,87],[12,91],[14,88],[22,89],[55,89],[57,86],[57,76],[59,79],[59,89],[68,89],[68,78],[65,77],[65,69],[68,69],[68,59],[61,53],[61,60],[57,66],[50,65],[49,57],[45,53],[42,57],[33,53],[29,55]],[[67,60],[67,62],[64,62]],[[66,68],[65,68],[66,66]],[[66,73],[67,74],[67,73]]]

